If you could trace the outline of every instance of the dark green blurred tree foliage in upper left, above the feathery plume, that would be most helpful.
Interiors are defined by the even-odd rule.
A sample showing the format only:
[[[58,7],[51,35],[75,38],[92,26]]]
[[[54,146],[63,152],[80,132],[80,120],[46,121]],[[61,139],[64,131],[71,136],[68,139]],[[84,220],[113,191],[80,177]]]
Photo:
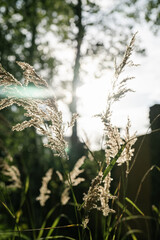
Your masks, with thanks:
[[[63,22],[69,21],[70,14],[65,1],[2,0],[0,61],[6,70],[20,79],[15,60],[25,61],[39,71],[45,69],[46,80],[51,81],[57,61],[45,36],[54,24],[66,35]]]

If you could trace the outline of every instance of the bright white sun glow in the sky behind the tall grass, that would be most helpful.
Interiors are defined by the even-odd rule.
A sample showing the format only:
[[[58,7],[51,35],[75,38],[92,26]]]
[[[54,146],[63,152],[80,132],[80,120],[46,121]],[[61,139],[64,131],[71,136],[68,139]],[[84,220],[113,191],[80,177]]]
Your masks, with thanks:
[[[129,73],[129,76],[135,77],[129,83],[135,93],[128,93],[124,99],[114,105],[112,122],[121,128],[123,132],[129,116],[132,123],[132,133],[136,131],[140,135],[145,134],[149,127],[149,107],[159,103],[160,48],[159,39],[153,36],[148,26],[144,24],[142,27],[138,27],[137,30],[142,46],[147,49],[147,56],[134,56],[134,62],[140,64],[139,67],[132,70],[131,74]],[[57,52],[60,50],[58,46]],[[59,80],[71,81],[73,74],[71,66],[73,66],[75,57],[74,51],[62,48],[61,44],[60,48],[63,54],[59,53],[58,57],[64,64],[60,66],[60,74],[55,76],[55,80],[57,79],[57,82]],[[87,135],[92,147],[97,149],[101,146],[103,125],[100,119],[93,116],[105,110],[113,72],[106,71],[102,76],[96,78],[94,75],[96,74],[96,67],[93,60],[87,63],[82,62],[82,64],[83,70],[88,73],[81,72],[83,84],[77,89],[77,97],[79,98],[77,111],[80,114],[78,133],[80,138],[84,140]],[[57,95],[55,87],[53,90]],[[68,119],[67,114],[65,110],[65,119]]]

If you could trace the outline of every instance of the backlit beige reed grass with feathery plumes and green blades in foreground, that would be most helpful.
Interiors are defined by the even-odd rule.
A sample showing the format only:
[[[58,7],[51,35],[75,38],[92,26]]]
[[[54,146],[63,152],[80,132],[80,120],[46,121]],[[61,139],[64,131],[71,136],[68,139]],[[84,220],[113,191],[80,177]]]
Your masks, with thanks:
[[[132,92],[132,89],[127,87],[127,82],[132,80],[133,77],[121,78],[122,72],[126,67],[135,66],[131,61],[131,54],[134,48],[136,34],[133,35],[129,42],[122,61],[117,64],[115,61],[115,71],[112,80],[112,89],[107,98],[106,109],[103,113],[97,114],[104,124],[104,157],[102,161],[97,159],[92,154],[92,161],[95,162],[96,175],[90,180],[90,186],[87,180],[83,177],[85,173],[85,164],[89,160],[88,156],[80,158],[73,169],[69,171],[68,162],[69,155],[66,151],[67,142],[65,140],[65,131],[68,127],[72,127],[76,121],[78,114],[74,114],[70,123],[67,125],[63,122],[62,112],[58,108],[57,100],[52,95],[52,89],[48,86],[47,82],[43,80],[28,63],[17,62],[22,68],[24,73],[24,82],[19,82],[10,73],[8,73],[2,66],[0,66],[0,87],[3,97],[0,100],[0,110],[9,106],[17,105],[25,110],[24,116],[26,120],[17,123],[12,127],[13,131],[23,131],[25,128],[34,127],[38,134],[44,136],[47,139],[45,147],[50,148],[53,154],[57,155],[58,160],[61,161],[63,166],[61,172],[58,169],[48,169],[45,176],[42,178],[42,185],[40,188],[40,194],[35,200],[39,201],[41,208],[47,208],[47,202],[51,195],[49,189],[49,182],[53,180],[53,172],[58,176],[60,184],[63,186],[61,193],[60,203],[49,209],[45,219],[43,220],[39,228],[35,228],[32,215],[32,207],[30,206],[28,198],[29,179],[26,178],[25,184],[21,182],[21,175],[16,166],[13,163],[2,161],[1,169],[2,174],[5,177],[3,188],[8,191],[7,188],[16,190],[21,189],[21,201],[20,206],[16,212],[12,211],[9,205],[7,205],[5,197],[0,200],[1,207],[5,208],[6,214],[9,214],[13,218],[13,228],[7,226],[3,227],[0,224],[0,238],[1,239],[30,239],[27,233],[32,233],[32,239],[100,239],[99,232],[101,230],[101,239],[141,239],[142,230],[134,229],[129,224],[131,220],[143,218],[146,221],[155,220],[152,217],[145,216],[145,214],[136,205],[138,194],[141,190],[141,186],[147,177],[148,173],[156,166],[153,166],[143,177],[135,201],[132,201],[128,197],[124,196],[122,201],[119,200],[121,184],[117,186],[114,194],[111,193],[112,170],[117,166],[125,165],[125,174],[123,172],[123,181],[127,179],[132,165],[131,159],[134,155],[134,144],[136,142],[136,135],[130,135],[131,123],[128,119],[126,126],[126,135],[121,136],[117,126],[114,126],[111,121],[112,106],[115,102],[121,100],[128,92]],[[30,90],[30,84],[32,91]],[[34,96],[34,92],[40,91],[43,95]],[[88,148],[89,149],[89,148]],[[159,169],[158,169],[159,170]],[[85,174],[84,174],[85,175]],[[53,180],[54,181],[54,180]],[[10,182],[9,185],[6,183]],[[84,192],[81,202],[78,202],[75,188],[79,184],[87,184],[88,192]],[[127,184],[127,181],[126,181]],[[54,195],[54,193],[53,193]],[[12,199],[11,199],[12,201]],[[23,206],[27,202],[28,212],[30,216],[32,228],[27,228],[28,224],[23,222]],[[130,212],[128,204],[132,205],[132,208],[136,210],[136,214]],[[56,209],[61,206],[74,208],[75,221],[70,222],[70,216],[65,214],[55,214]],[[114,209],[115,205],[117,206]],[[156,206],[153,210],[158,215],[159,210]],[[96,220],[93,220],[93,213],[96,214]],[[54,214],[56,217],[54,217]],[[61,219],[67,219],[67,225],[61,225]],[[51,220],[51,226],[47,223]],[[96,225],[96,229],[91,229],[91,223]],[[26,224],[26,225],[25,225]],[[64,230],[77,229],[77,232],[72,237],[69,236],[69,231],[66,234]],[[124,232],[125,229],[125,232]]]

